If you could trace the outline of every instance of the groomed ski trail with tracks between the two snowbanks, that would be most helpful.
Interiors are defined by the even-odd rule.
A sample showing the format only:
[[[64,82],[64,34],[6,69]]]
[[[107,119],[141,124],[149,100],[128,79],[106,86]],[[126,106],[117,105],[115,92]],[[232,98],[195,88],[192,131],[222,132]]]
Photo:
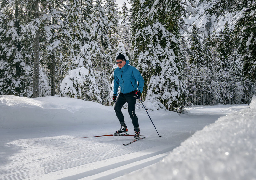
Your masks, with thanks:
[[[138,112],[141,134],[145,139],[123,146],[132,137],[71,139],[85,135],[114,132],[116,124],[3,129],[0,140],[0,179],[114,179],[155,164],[181,142],[218,117],[246,108],[234,106],[196,106],[188,114],[161,119],[151,114],[157,133],[145,112]],[[125,117],[126,118],[126,117]],[[132,130],[130,119],[126,120]],[[32,129],[32,130],[31,130]],[[133,131],[129,131],[133,134]]]

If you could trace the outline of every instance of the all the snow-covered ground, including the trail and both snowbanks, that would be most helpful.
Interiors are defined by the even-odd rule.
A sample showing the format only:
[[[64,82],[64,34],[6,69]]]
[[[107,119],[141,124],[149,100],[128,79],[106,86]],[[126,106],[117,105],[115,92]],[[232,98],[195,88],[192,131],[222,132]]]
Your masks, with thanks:
[[[70,138],[115,132],[113,107],[58,96],[0,96],[0,179],[256,179],[256,97],[251,108],[187,110],[180,116],[148,111],[162,138],[146,111],[136,111],[141,134],[150,137],[123,146],[132,136]]]

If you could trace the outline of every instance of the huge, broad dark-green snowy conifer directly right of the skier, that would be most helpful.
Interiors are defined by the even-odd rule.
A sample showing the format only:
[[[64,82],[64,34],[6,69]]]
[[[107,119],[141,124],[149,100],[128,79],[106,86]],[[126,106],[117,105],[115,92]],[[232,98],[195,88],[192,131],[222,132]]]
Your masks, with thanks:
[[[157,101],[172,110],[184,102],[187,93],[185,58],[178,43],[181,7],[180,1],[134,0],[131,9],[133,59],[145,80],[144,88],[150,92],[144,96],[148,101],[159,98]]]

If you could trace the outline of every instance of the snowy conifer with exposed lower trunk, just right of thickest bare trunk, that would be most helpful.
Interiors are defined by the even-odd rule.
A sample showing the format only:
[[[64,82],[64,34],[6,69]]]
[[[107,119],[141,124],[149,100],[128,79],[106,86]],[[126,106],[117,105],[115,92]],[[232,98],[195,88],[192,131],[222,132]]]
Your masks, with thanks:
[[[66,6],[64,1],[50,0],[42,6],[42,19],[44,34],[41,35],[42,51],[41,66],[49,70],[48,78],[50,79],[51,95],[55,95],[56,84],[58,80],[58,64],[67,56],[66,47],[71,44],[71,35],[68,32],[68,23],[65,21]],[[70,51],[70,49],[68,49]],[[65,56],[65,57],[64,57]],[[63,58],[64,57],[64,58]],[[67,57],[66,57],[67,58]],[[59,84],[59,82],[57,82]],[[39,88],[40,91],[40,88]]]

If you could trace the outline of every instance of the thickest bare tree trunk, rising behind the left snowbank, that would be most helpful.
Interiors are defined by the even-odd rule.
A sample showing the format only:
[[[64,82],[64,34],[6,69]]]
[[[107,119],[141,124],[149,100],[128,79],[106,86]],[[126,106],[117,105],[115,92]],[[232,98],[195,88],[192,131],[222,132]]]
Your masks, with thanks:
[[[39,18],[38,0],[35,0],[35,15]],[[33,74],[33,97],[39,96],[39,30],[36,31],[34,39],[34,74]]]

